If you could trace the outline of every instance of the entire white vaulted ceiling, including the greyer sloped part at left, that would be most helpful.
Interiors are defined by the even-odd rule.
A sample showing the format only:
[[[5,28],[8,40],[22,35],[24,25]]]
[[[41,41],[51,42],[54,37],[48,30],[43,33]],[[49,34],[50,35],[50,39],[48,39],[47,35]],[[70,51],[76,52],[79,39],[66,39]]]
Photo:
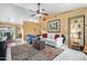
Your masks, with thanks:
[[[42,3],[41,9],[43,8],[45,12],[64,12],[73,9],[86,8],[87,3]],[[0,4],[0,21],[23,21],[29,20],[32,22],[39,22],[36,17],[31,17],[35,12],[30,10],[37,10],[37,3],[3,3]],[[7,12],[6,12],[7,11]],[[19,22],[18,22],[19,23]]]

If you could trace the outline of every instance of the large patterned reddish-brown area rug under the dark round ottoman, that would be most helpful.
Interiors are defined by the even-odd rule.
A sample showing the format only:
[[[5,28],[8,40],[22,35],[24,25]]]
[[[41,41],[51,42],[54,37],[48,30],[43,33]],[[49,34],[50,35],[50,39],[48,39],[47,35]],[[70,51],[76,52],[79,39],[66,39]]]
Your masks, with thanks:
[[[53,61],[64,50],[45,45],[45,48],[37,51],[31,44],[22,44],[11,47],[12,61]]]

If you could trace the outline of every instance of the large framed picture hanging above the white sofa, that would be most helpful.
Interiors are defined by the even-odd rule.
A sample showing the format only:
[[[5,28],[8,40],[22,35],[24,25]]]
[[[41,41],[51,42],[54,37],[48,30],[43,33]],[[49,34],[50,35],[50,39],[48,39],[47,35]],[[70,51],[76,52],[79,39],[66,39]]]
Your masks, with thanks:
[[[53,20],[48,22],[48,32],[59,32],[61,31],[61,21]]]

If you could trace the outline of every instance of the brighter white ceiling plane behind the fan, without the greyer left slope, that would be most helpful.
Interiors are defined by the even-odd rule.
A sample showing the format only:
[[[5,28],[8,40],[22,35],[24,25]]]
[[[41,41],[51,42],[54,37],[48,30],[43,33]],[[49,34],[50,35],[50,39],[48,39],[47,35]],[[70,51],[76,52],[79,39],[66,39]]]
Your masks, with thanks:
[[[28,10],[37,10],[36,3],[17,3],[17,6],[22,7]],[[87,3],[41,3],[41,8],[45,10],[47,13],[53,12],[64,12],[73,9],[87,7]],[[33,13],[32,11],[30,11]]]

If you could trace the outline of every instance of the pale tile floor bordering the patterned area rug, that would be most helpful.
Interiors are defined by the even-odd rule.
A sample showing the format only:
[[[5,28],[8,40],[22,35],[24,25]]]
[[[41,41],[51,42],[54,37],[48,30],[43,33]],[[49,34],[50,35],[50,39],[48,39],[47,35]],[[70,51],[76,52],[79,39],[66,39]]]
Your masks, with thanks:
[[[83,52],[67,48],[67,45],[62,46],[64,52],[56,56],[53,61],[87,61],[87,55]],[[7,61],[11,61],[11,48],[7,48]]]

